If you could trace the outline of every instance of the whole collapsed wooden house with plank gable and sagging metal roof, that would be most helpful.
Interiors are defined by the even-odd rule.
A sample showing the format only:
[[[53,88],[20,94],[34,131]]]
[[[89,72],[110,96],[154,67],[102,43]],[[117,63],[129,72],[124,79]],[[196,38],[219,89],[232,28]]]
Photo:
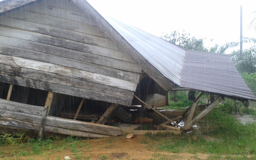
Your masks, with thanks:
[[[1,127],[117,136],[121,128],[103,125],[112,112],[125,120],[123,106],[156,111],[177,86],[202,91],[181,130],[222,97],[256,101],[228,55],[182,49],[101,16],[85,0],[0,2]],[[203,92],[218,97],[192,120]],[[165,118],[162,126],[174,121]]]

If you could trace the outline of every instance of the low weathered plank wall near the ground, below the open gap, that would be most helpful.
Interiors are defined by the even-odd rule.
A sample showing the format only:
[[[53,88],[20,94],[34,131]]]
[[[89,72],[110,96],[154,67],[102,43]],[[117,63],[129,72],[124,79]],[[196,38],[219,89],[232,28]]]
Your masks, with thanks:
[[[39,130],[44,107],[0,99],[0,125]],[[44,131],[100,138],[122,134],[121,128],[46,116]]]

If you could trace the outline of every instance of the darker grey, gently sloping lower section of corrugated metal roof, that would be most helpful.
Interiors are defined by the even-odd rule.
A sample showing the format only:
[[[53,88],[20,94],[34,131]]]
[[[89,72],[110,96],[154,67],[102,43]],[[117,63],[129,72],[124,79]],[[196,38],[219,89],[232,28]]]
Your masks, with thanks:
[[[180,87],[256,100],[225,54],[186,51]]]

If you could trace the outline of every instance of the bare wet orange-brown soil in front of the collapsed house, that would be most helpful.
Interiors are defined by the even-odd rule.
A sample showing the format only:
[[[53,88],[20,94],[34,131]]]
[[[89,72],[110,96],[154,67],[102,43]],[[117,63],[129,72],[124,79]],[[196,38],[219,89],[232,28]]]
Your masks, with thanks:
[[[206,160],[208,154],[190,154],[190,153],[170,153],[153,149],[153,144],[148,142],[143,144],[144,136],[127,139],[125,136],[97,138],[79,141],[86,143],[83,147],[78,147],[76,152],[69,149],[56,151],[47,150],[41,155],[20,156],[20,160],[63,160],[65,156],[70,156],[72,160]],[[89,146],[89,147],[88,147]],[[0,150],[11,152],[8,147],[0,147]],[[8,156],[8,155],[7,155]],[[12,156],[0,158],[1,160],[14,160]]]

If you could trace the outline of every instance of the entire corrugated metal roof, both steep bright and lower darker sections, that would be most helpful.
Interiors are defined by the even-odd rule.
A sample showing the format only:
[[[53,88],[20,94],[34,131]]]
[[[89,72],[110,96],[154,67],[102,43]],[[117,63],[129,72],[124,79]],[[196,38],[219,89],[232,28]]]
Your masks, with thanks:
[[[110,17],[107,22],[162,75],[180,87],[256,100],[229,55],[190,51]]]

